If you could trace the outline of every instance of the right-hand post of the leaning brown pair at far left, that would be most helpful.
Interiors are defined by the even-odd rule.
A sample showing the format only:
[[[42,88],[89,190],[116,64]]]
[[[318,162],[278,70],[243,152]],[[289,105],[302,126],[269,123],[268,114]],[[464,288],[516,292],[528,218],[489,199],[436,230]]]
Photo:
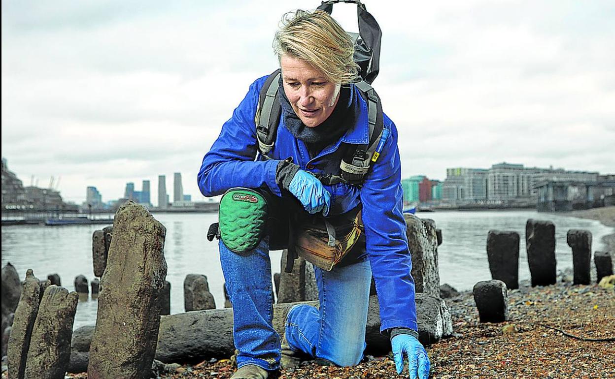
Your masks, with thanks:
[[[49,286],[39,307],[28,359],[25,379],[63,379],[71,354],[71,336],[77,311],[77,292]]]

